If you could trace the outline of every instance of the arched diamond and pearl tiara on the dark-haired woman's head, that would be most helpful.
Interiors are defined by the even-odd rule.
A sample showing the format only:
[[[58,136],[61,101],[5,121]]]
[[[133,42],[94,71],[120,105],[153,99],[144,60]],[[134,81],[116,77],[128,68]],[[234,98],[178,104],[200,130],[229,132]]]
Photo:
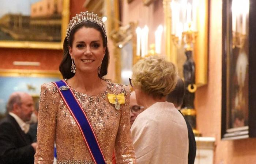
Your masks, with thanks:
[[[76,16],[72,17],[72,19],[69,21],[67,34],[66,34],[68,41],[69,41],[69,35],[72,29],[81,22],[93,22],[98,24],[102,28],[104,35],[106,36],[106,27],[101,17],[99,17],[97,14],[94,14],[93,12],[90,13],[86,11],[86,12],[80,12],[80,14],[76,14]]]

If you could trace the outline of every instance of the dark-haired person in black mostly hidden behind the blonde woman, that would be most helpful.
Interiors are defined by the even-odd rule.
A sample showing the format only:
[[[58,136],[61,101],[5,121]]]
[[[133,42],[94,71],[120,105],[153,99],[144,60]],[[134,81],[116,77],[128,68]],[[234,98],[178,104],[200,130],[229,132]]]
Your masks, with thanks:
[[[184,95],[185,95],[185,84],[183,80],[179,78],[174,90],[167,95],[167,101],[172,102],[175,108],[179,110],[179,108],[183,103]],[[195,157],[196,157],[196,140],[188,120],[186,120],[186,118],[184,119],[188,127],[188,164],[193,164],[195,162]]]

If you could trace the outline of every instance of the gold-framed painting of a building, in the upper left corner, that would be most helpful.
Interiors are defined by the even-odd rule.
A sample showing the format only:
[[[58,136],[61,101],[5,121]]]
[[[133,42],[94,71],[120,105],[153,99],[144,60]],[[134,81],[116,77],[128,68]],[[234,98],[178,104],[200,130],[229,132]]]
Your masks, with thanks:
[[[61,49],[69,20],[69,0],[3,1],[0,47]]]

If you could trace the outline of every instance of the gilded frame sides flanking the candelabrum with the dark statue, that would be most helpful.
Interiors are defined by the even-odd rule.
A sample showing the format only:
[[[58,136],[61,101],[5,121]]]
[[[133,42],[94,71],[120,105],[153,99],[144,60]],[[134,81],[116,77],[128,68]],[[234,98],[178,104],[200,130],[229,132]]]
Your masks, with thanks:
[[[164,21],[165,21],[165,52],[167,59],[173,62],[175,65],[183,65],[178,58],[177,48],[174,46],[174,42],[171,37],[172,31],[172,12],[170,9],[170,3],[172,0],[163,0],[164,9]],[[207,71],[208,71],[208,4],[210,0],[199,0],[198,12],[198,35],[195,44],[194,60],[196,66],[196,85],[197,87],[207,84]],[[183,53],[183,52],[182,52]],[[183,53],[182,55],[185,56]]]

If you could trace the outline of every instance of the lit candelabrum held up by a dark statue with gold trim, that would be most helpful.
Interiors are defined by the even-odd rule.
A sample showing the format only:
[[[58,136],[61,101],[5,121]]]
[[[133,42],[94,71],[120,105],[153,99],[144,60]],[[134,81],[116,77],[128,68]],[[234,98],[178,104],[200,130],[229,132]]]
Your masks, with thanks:
[[[191,4],[192,2],[192,4]],[[185,82],[185,97],[181,112],[191,124],[193,131],[199,135],[196,128],[196,111],[194,106],[195,91],[195,62],[193,60],[194,44],[197,37],[197,7],[198,0],[171,1],[172,40],[176,48],[185,48],[187,60],[183,64]]]

